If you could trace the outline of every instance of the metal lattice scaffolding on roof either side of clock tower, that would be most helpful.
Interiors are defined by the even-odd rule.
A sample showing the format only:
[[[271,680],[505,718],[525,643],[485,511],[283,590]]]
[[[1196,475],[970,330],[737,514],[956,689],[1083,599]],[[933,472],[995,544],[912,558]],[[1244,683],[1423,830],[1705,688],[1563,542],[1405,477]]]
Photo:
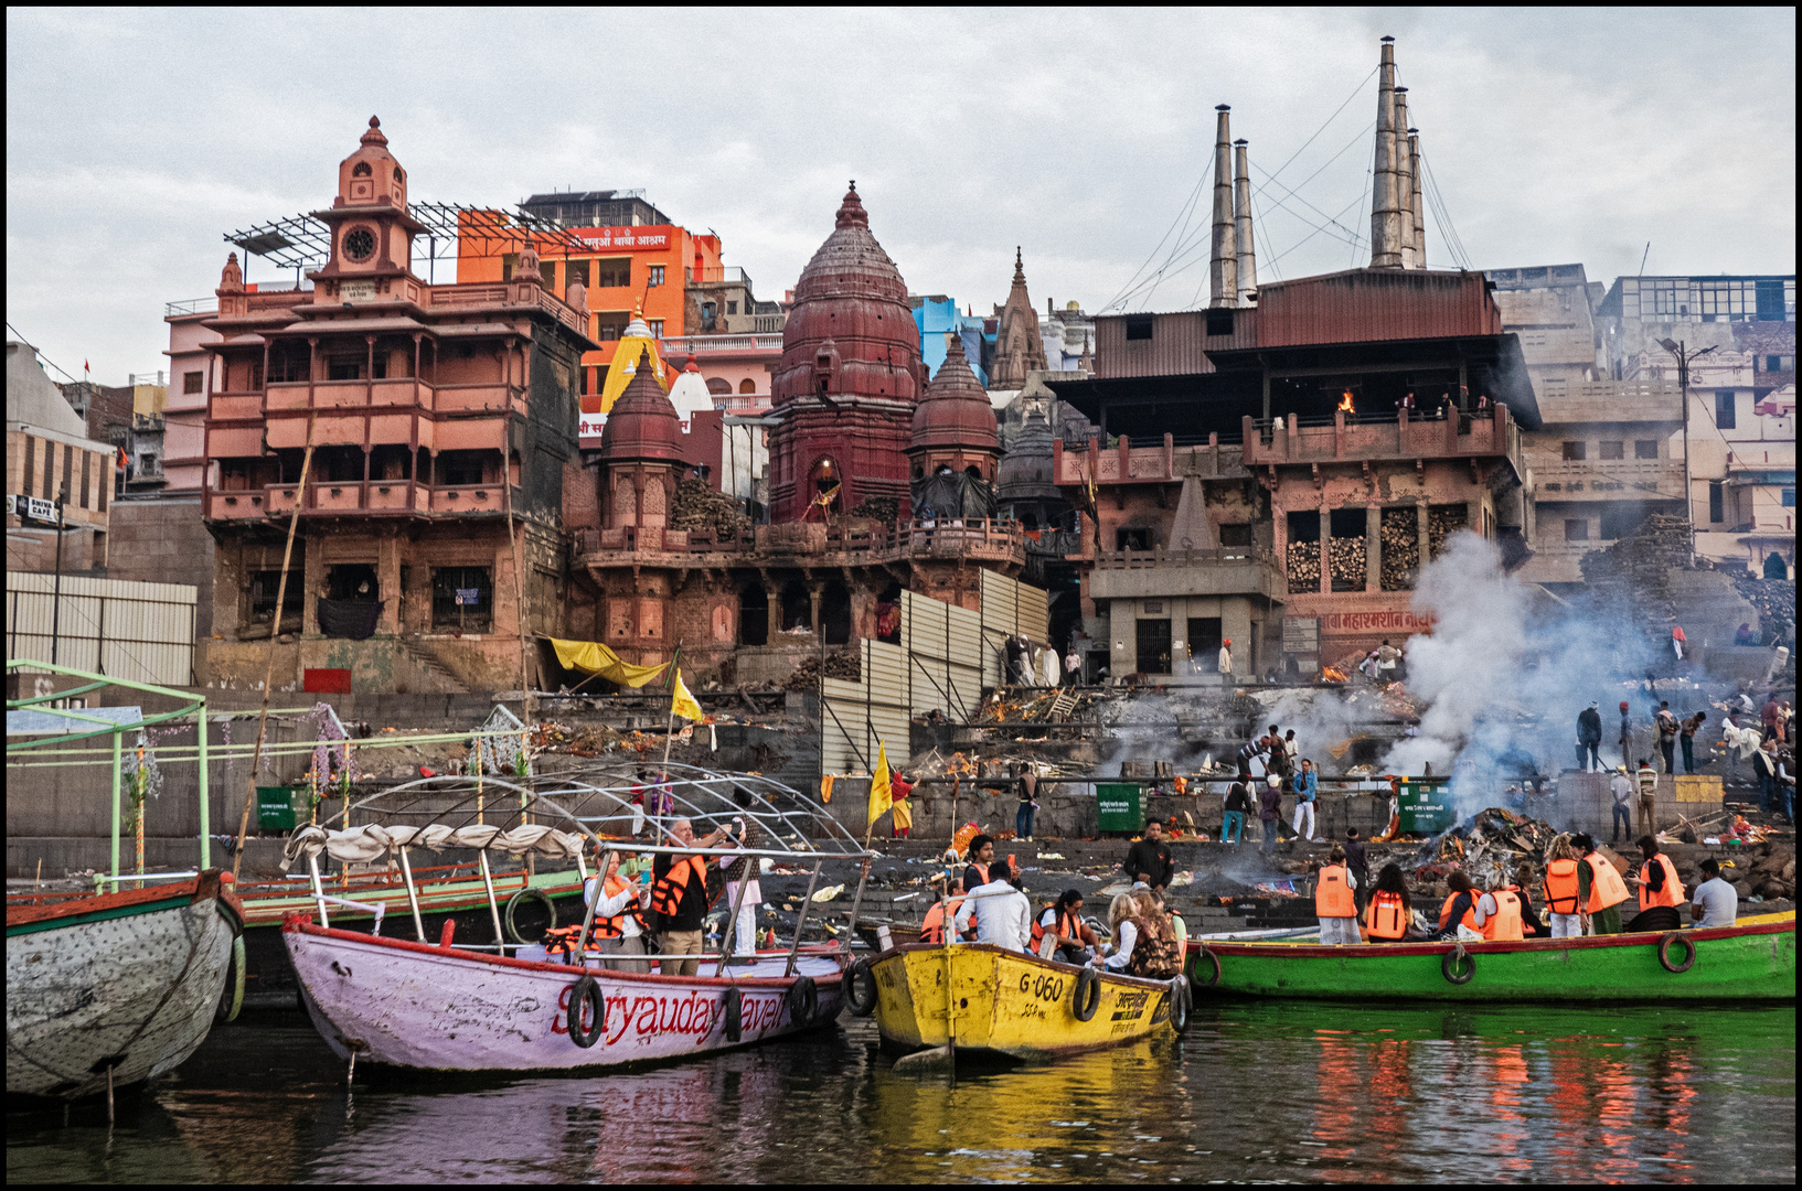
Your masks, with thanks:
[[[517,252],[523,238],[537,241],[539,256],[587,254],[573,231],[519,209],[472,207],[458,202],[416,202],[407,214],[425,225],[425,252],[414,240],[416,261],[450,261],[458,256],[488,258]],[[469,245],[463,245],[463,240]],[[319,268],[332,259],[332,229],[314,213],[301,213],[223,234],[247,256],[259,256],[276,268]],[[461,250],[469,247],[470,250]]]

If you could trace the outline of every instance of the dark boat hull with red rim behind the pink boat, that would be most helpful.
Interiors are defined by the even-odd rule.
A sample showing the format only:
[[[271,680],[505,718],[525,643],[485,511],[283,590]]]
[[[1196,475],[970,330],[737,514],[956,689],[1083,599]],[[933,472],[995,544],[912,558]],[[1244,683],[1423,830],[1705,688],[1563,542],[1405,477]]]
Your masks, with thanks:
[[[494,896],[499,906],[506,908],[506,899],[523,886],[521,874],[496,874]],[[571,926],[582,921],[582,881],[575,870],[544,872],[532,877],[532,888],[542,890],[557,906],[557,923]],[[328,894],[364,903],[364,906],[346,906],[328,903],[328,921],[333,926],[346,926],[368,932],[375,923],[377,903],[384,905],[382,933],[391,939],[414,939],[413,910],[407,906],[407,890],[398,874],[393,885],[366,885],[350,890],[326,886]],[[301,986],[294,977],[294,964],[288,960],[288,948],[281,939],[281,919],[288,914],[308,914],[314,908],[312,892],[299,883],[292,883],[279,896],[252,892],[245,899],[245,973],[243,1004],[252,1009],[292,1009],[299,1005]],[[533,910],[542,914],[542,910]],[[494,915],[488,910],[488,892],[481,877],[463,877],[445,883],[420,885],[420,919],[425,923],[425,937],[438,939],[445,923],[456,923],[458,939],[494,941]],[[530,935],[528,935],[530,937]],[[512,942],[512,941],[508,941]]]

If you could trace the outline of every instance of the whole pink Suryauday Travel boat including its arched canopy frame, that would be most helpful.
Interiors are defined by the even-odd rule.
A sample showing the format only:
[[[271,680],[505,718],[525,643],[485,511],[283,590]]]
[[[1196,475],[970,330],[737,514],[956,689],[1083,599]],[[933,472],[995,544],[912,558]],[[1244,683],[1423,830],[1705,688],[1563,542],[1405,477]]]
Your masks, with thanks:
[[[600,768],[485,780],[479,787],[469,778],[411,782],[357,807],[359,820],[375,818],[369,827],[297,836],[290,854],[306,856],[317,912],[290,914],[281,937],[326,1045],[351,1070],[360,1059],[413,1070],[544,1072],[685,1059],[834,1022],[845,998],[849,946],[802,946],[800,932],[824,865],[860,863],[867,852],[824,807],[769,778],[672,769],[681,769],[672,775],[676,814],[651,823],[652,843],[611,834],[629,831],[634,791],[629,777]],[[753,847],[685,845],[670,834],[678,820],[688,820],[697,834],[733,820],[755,823]],[[402,872],[411,874],[407,849],[429,847],[474,849],[483,872],[490,850],[506,850],[575,861],[586,876],[589,845],[600,856],[811,861],[813,879],[787,948],[762,951],[755,964],[733,955],[737,906],[730,906],[717,951],[690,977],[604,968],[604,957],[587,950],[593,908],[573,948],[559,953],[566,960],[582,955],[580,964],[505,941],[497,906],[492,944],[454,941],[452,924],[427,941],[411,877],[416,939],[337,930],[317,867],[319,852],[368,861],[371,849],[395,849]],[[607,863],[602,859],[604,868]],[[860,879],[845,939],[854,937],[861,894]]]

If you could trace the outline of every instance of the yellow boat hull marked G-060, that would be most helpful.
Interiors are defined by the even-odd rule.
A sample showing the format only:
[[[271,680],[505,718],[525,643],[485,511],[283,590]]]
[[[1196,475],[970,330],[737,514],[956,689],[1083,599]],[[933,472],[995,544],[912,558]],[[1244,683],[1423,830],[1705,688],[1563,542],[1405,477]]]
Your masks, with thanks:
[[[876,1025],[883,1040],[897,1047],[942,1047],[950,1002],[959,1052],[987,1050],[1025,1059],[1097,1050],[1169,1031],[1169,982],[1114,973],[1101,977],[1094,1016],[1078,1022],[1074,1000],[1081,973],[1074,964],[982,942],[906,944],[883,951],[870,964]]]

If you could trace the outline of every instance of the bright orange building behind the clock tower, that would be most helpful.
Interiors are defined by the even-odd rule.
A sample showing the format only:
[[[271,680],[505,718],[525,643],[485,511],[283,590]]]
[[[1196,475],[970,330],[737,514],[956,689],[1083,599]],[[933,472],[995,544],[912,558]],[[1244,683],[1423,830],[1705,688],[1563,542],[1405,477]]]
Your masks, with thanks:
[[[505,222],[501,211],[460,220],[458,283],[512,279],[519,249],[497,240],[494,231]],[[519,241],[526,234],[521,229]],[[566,227],[532,236],[548,292],[568,294],[575,281],[587,290],[587,333],[602,350],[582,357],[584,413],[598,413],[598,404],[589,409],[591,398],[605,387],[616,341],[625,335],[633,315],[643,312],[652,339],[690,333],[692,328],[685,326],[688,276],[705,277],[721,270],[719,236],[696,236],[674,223]],[[674,369],[665,362],[665,387],[672,378]]]

